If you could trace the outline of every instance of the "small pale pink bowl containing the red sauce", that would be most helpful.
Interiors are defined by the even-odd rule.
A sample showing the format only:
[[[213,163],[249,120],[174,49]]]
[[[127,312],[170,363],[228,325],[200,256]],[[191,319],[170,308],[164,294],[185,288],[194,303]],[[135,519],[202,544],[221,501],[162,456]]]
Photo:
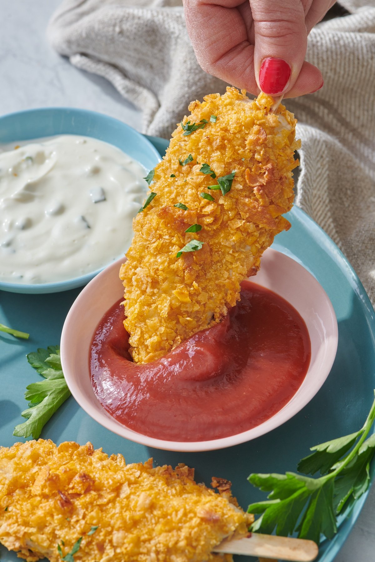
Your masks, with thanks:
[[[167,451],[210,451],[255,439],[292,418],[315,396],[328,377],[337,351],[338,331],[331,301],[318,281],[291,257],[269,248],[253,283],[285,298],[305,320],[311,341],[311,361],[300,388],[291,400],[266,422],[245,432],[211,441],[175,442],[136,433],[112,418],[100,405],[91,386],[89,351],[102,316],[123,296],[115,261],[83,289],[71,307],[61,335],[61,364],[67,385],[75,400],[97,422],[142,445]]]

